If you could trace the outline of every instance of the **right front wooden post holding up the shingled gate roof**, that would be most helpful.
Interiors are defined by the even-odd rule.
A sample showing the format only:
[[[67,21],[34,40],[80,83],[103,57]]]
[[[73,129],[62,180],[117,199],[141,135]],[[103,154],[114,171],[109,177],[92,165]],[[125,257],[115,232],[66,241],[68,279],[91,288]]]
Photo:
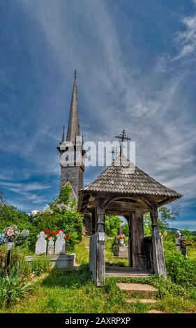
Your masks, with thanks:
[[[167,276],[162,236],[158,232],[158,206],[156,202],[151,202],[151,205],[152,210],[150,215],[152,221],[153,271],[160,276]]]

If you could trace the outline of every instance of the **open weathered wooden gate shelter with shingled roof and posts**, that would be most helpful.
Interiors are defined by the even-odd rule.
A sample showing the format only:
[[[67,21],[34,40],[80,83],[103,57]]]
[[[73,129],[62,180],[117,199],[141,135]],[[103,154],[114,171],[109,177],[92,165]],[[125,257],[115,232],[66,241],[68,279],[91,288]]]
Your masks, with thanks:
[[[166,276],[162,236],[158,232],[158,207],[181,197],[137,167],[129,173],[130,162],[123,154],[119,156],[119,165],[116,160],[115,165],[113,162],[98,179],[79,192],[78,210],[91,214],[89,269],[98,286],[110,274],[105,269],[105,214],[121,215],[128,221],[130,271]],[[152,235],[144,238],[143,216],[148,212]]]

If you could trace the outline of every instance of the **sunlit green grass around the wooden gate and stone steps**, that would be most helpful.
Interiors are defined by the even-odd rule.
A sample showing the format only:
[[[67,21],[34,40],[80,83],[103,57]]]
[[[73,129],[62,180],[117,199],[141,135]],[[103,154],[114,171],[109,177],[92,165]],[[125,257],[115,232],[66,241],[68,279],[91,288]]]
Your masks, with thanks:
[[[106,258],[113,261],[111,239],[107,239]],[[84,237],[76,247],[76,260],[80,270],[52,270],[50,274],[33,283],[33,292],[27,299],[10,308],[1,308],[1,313],[146,313],[159,310],[165,313],[196,313],[196,298],[181,286],[164,278],[151,276],[147,279],[107,278],[102,288],[96,288],[88,271],[89,238]],[[194,251],[193,256],[195,256]],[[127,260],[118,260],[126,265]],[[126,302],[129,297],[116,287],[116,282],[150,283],[158,288],[156,304]],[[193,291],[192,291],[193,292]],[[193,295],[193,293],[192,293]]]

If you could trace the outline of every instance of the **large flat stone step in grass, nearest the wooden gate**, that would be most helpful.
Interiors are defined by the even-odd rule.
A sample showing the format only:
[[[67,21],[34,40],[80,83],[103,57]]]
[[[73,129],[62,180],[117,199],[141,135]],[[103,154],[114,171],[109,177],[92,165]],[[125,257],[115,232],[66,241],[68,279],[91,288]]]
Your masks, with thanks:
[[[116,283],[116,285],[123,292],[134,292],[139,295],[150,296],[158,292],[155,287],[143,283]]]

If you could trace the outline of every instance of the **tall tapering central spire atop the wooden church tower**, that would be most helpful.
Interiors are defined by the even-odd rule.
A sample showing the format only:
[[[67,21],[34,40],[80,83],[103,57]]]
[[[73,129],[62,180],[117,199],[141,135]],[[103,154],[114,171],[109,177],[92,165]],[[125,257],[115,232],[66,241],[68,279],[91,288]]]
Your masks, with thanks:
[[[76,82],[76,70],[75,70],[66,141],[70,141],[73,142],[73,144],[75,144],[75,137],[77,135],[80,135],[80,121],[79,121],[79,114],[78,114],[77,82]]]

